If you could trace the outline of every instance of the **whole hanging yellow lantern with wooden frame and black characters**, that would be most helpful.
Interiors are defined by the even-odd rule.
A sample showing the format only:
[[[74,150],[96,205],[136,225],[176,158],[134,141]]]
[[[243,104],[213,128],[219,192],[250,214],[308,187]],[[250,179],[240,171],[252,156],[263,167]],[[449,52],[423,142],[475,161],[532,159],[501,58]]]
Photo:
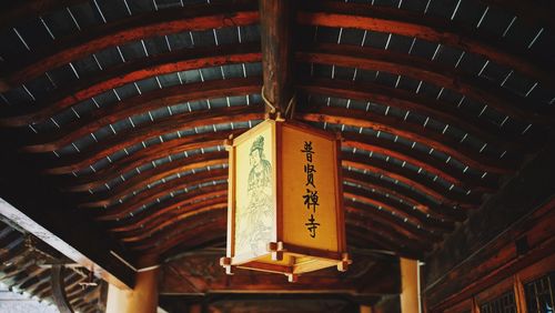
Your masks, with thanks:
[[[346,271],[341,142],[320,129],[266,119],[225,142],[230,152],[228,251],[233,267],[299,274]]]

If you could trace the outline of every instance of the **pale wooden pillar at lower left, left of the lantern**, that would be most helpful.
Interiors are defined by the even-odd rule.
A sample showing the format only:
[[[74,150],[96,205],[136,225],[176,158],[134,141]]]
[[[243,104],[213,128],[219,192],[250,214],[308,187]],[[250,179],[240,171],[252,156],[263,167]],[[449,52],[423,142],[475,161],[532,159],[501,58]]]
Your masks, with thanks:
[[[158,276],[160,269],[137,273],[133,290],[108,289],[107,313],[154,313],[158,307]]]

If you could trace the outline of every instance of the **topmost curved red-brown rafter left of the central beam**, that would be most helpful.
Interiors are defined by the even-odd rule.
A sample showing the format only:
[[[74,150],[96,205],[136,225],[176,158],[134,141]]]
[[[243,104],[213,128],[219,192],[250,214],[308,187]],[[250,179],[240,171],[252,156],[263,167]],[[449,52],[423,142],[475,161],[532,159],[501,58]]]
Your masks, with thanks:
[[[185,8],[143,13],[101,24],[57,40],[21,55],[21,62],[10,64],[3,80],[16,87],[48,70],[68,64],[103,49],[155,36],[201,31],[223,27],[249,26],[259,22],[254,0],[240,3],[195,4]]]

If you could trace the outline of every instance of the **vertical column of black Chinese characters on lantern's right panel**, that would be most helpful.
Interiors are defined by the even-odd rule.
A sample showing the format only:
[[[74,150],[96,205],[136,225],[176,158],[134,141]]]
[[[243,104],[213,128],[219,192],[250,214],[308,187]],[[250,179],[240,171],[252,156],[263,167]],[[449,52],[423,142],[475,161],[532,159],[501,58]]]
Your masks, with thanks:
[[[304,142],[304,149],[301,150],[301,152],[305,153],[306,156],[306,164],[304,164],[304,173],[306,174],[306,183],[304,184],[306,186],[306,193],[303,195],[304,199],[304,205],[310,212],[310,218],[309,222],[305,223],[306,230],[309,230],[311,238],[316,236],[316,229],[320,226],[320,223],[316,223],[316,206],[320,204],[317,203],[317,190],[316,185],[314,182],[314,173],[316,172],[316,169],[314,164],[312,163],[312,154],[315,154],[313,148],[312,148],[312,141],[305,141]]]

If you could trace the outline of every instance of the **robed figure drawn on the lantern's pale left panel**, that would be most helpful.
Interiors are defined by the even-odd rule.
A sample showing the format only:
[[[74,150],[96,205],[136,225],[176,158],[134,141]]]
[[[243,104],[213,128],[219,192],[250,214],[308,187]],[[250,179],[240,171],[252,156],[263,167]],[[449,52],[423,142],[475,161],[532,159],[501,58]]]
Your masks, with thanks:
[[[250,150],[250,172],[246,185],[248,206],[243,211],[244,224],[238,238],[241,250],[265,252],[272,240],[272,164],[264,155],[264,137],[258,137]]]

